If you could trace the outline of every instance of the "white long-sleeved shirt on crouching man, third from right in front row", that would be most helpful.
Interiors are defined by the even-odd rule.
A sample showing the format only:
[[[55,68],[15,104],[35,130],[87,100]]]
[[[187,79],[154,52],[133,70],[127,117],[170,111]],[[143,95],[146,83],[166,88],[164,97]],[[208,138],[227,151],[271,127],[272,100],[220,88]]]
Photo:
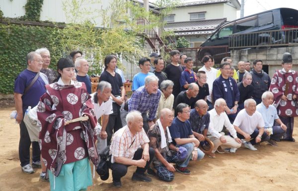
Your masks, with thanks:
[[[222,134],[220,132],[223,131],[224,126],[229,131],[231,136],[233,136],[234,139],[237,138],[237,132],[234,129],[234,126],[230,123],[227,115],[225,112],[218,115],[215,108],[209,111],[210,114],[210,124],[208,128],[208,135],[212,135],[218,139],[222,137]],[[210,128],[211,127],[211,128]]]

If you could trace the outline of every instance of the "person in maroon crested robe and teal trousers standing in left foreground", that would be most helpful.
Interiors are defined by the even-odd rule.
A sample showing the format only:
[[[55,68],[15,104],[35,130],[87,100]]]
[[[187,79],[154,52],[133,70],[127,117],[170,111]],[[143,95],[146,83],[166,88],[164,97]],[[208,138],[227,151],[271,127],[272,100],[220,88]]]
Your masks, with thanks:
[[[37,107],[39,143],[51,191],[80,191],[92,185],[88,159],[98,164],[96,118],[84,83],[73,81],[74,63],[61,58],[59,80],[46,85]],[[87,121],[69,122],[88,116]]]

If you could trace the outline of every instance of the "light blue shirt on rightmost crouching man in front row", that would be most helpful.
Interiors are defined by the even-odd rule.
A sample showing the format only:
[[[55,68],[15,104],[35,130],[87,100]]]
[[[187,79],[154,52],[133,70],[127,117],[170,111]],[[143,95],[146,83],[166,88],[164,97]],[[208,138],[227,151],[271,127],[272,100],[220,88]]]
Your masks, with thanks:
[[[273,105],[269,105],[269,107],[266,108],[264,103],[261,102],[257,105],[257,111],[262,114],[266,128],[273,127],[274,120],[279,119],[277,110]]]

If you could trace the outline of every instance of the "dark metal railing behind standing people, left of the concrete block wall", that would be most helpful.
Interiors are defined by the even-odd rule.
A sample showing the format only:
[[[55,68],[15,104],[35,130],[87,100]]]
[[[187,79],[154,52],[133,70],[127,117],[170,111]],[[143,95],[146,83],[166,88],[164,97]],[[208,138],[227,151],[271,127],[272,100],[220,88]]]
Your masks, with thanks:
[[[230,56],[228,46],[178,48],[178,50],[181,54],[186,54],[194,59],[194,67],[203,66],[201,60],[205,55],[212,55],[215,64],[221,63],[224,57]]]

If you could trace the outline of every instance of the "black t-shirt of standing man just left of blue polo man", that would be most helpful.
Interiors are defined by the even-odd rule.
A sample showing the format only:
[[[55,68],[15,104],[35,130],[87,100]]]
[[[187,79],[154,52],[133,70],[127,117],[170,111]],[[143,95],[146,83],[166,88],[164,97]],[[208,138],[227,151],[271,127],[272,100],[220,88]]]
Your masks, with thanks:
[[[180,93],[180,76],[182,71],[183,69],[180,65],[174,66],[173,64],[167,65],[164,69],[168,80],[171,80],[174,83],[172,94],[175,98]]]

